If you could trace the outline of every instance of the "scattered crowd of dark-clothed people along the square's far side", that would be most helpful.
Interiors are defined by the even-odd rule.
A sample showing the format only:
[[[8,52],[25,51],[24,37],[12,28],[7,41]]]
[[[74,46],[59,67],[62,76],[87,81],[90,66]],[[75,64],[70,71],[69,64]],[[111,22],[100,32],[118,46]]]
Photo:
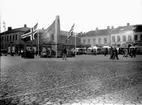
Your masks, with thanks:
[[[85,52],[82,54],[88,54],[86,52],[87,52],[87,50],[85,50]],[[104,48],[102,52],[97,49],[90,50],[90,53],[92,55],[97,55],[97,54],[103,54],[104,56],[110,55],[111,60],[114,60],[114,59],[119,60],[119,56],[118,56],[119,54],[123,55],[123,57],[134,57],[135,58],[136,52],[137,52],[137,48],[135,46],[131,46],[131,47],[127,47],[127,48],[118,48],[118,47]],[[69,49],[67,47],[63,47],[63,49],[61,51],[62,59],[66,60],[67,57],[69,56],[69,54],[70,54],[70,56],[75,56],[76,54],[78,54],[78,52],[75,50],[75,48]],[[12,54],[12,56],[13,55],[14,54]],[[18,55],[21,56],[22,58],[34,58],[34,56],[38,55],[38,51],[34,51],[34,49],[29,47],[25,50],[20,50],[18,52]],[[43,57],[50,57],[51,58],[52,55],[55,56],[56,54],[55,53],[53,54],[53,51],[51,48],[47,48],[46,51],[40,52],[40,56],[43,56]]]

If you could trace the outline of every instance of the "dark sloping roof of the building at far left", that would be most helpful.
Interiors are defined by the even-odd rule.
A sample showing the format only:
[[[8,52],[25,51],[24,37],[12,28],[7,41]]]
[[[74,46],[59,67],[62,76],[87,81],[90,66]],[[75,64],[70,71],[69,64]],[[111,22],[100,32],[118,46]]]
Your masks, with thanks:
[[[26,31],[28,31],[29,29],[30,29],[29,27],[15,28],[15,29],[12,29],[12,30],[5,31],[5,32],[3,32],[3,33],[0,33],[0,35],[3,35],[3,34],[10,34],[10,33],[16,33],[16,32],[26,32]]]

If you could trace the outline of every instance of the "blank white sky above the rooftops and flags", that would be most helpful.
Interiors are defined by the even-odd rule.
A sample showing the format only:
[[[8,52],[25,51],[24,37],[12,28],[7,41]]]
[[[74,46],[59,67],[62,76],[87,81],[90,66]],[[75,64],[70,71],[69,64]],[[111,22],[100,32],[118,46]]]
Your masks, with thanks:
[[[57,15],[64,31],[74,23],[74,32],[142,24],[142,0],[0,0],[6,27],[33,27],[38,22],[38,28],[46,29]]]

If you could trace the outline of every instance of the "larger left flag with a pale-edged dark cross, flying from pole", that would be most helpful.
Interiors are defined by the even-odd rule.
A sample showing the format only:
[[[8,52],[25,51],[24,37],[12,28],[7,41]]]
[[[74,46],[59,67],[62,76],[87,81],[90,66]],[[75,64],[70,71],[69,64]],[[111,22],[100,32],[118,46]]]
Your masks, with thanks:
[[[34,40],[35,34],[37,33],[37,26],[38,26],[38,23],[34,27],[32,27],[30,30],[25,32],[23,35],[21,35],[21,39],[23,39],[23,40],[28,39],[26,41]]]

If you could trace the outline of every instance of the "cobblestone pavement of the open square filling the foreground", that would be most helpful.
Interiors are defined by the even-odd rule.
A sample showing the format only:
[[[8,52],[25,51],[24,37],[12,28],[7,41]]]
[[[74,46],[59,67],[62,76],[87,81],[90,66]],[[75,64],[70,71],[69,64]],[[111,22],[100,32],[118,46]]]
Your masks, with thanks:
[[[15,57],[13,66],[1,69],[0,102],[5,98],[19,105],[142,105],[141,56],[108,58]]]

